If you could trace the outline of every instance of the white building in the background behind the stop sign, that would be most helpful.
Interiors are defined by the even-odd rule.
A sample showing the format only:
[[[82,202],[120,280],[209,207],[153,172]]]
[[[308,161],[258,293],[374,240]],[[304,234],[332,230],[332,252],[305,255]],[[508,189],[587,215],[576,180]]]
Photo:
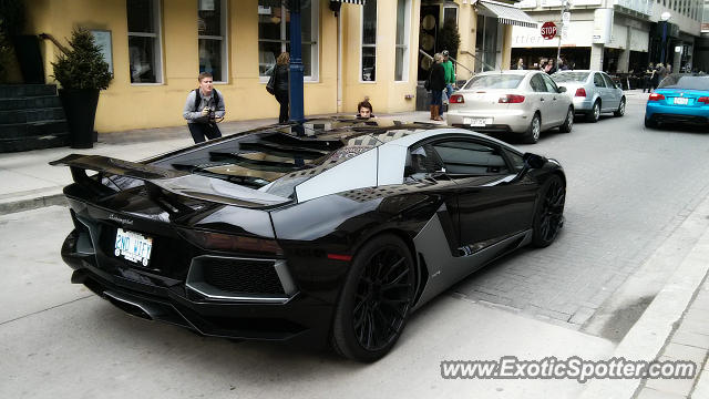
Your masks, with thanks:
[[[551,21],[561,28],[562,1],[524,0],[520,7],[537,22]],[[571,21],[566,23],[566,34],[545,40],[538,31],[515,28],[512,58],[523,58],[533,68],[540,57],[556,58],[561,42],[562,59],[576,69],[637,72],[649,62],[668,63],[672,71],[692,68],[702,0],[569,0],[568,3]]]

